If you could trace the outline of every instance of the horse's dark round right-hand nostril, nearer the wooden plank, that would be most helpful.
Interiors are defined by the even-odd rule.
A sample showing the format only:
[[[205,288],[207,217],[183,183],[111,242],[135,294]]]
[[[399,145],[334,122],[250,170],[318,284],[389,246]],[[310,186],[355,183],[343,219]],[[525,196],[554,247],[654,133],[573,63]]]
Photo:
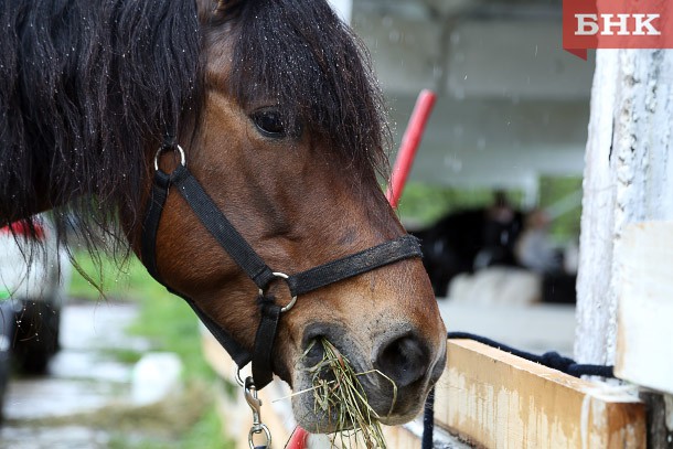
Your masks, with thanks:
[[[384,344],[375,359],[375,367],[395,381],[398,387],[423,378],[430,364],[430,351],[414,335],[404,335]]]

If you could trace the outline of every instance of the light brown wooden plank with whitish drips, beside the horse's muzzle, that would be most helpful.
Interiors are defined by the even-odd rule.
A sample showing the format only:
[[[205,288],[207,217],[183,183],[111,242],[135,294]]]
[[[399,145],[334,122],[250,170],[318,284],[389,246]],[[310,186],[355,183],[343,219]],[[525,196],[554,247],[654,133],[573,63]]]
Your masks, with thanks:
[[[435,419],[487,448],[644,448],[643,404],[481,343],[450,340]]]

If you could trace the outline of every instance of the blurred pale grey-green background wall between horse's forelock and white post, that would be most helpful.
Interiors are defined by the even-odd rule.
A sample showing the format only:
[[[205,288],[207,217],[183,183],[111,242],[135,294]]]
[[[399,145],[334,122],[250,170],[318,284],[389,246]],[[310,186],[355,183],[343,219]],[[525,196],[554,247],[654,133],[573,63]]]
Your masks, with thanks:
[[[445,22],[376,15],[353,25],[372,52],[399,142],[416,95],[439,94],[410,181],[530,189],[581,175],[594,62],[564,52],[560,20]]]

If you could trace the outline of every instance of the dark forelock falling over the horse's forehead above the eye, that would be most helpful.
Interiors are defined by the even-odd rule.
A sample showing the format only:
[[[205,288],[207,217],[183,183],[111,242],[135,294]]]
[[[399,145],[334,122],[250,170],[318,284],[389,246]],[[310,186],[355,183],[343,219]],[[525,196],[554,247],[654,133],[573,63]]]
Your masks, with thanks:
[[[232,26],[227,88],[275,101],[290,130],[325,139],[359,174],[385,174],[389,130],[364,44],[323,1],[247,1]]]

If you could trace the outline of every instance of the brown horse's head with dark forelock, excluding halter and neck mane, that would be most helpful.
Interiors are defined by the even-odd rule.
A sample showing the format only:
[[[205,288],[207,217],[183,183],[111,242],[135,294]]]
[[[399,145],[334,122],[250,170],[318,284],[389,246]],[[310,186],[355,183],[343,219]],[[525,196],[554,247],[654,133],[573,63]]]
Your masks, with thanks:
[[[196,131],[179,140],[189,141],[194,178],[261,259],[291,275],[405,235],[377,179],[380,93],[361,44],[329,6],[201,9],[202,113]],[[177,193],[156,252],[172,289],[254,346],[257,287]],[[278,303],[290,302],[282,281],[269,289]],[[313,342],[327,339],[356,372],[370,373],[361,381],[382,421],[399,424],[419,411],[442,372],[445,338],[420,259],[405,259],[300,296],[279,321],[273,370],[295,391],[311,387],[309,370],[322,357]],[[312,395],[292,405],[305,428],[335,430],[333,417],[317,416]]]

